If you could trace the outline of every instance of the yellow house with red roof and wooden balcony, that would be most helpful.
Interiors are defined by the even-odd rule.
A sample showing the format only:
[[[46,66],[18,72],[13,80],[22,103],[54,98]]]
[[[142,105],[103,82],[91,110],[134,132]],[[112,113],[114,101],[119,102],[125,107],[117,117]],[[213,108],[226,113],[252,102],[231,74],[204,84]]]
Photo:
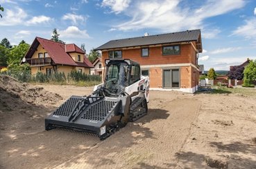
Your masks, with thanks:
[[[67,76],[72,70],[89,74],[93,68],[85,52],[74,43],[63,44],[40,37],[35,38],[25,58],[31,66],[31,74],[64,72]]]

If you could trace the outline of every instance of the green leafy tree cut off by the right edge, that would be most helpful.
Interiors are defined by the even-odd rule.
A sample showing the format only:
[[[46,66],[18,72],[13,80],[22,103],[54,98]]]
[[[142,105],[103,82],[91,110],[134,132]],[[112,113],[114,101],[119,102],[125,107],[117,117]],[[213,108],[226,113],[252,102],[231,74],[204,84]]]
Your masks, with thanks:
[[[244,84],[245,87],[254,86],[253,82],[256,81],[256,60],[250,61],[250,63],[244,68]]]

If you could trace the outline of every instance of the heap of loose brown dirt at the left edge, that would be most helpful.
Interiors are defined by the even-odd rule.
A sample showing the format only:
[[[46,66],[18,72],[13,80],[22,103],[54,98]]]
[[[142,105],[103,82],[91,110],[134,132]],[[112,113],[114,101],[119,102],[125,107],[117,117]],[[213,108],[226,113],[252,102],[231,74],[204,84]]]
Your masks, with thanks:
[[[10,109],[19,108],[20,102],[37,105],[54,104],[62,99],[42,87],[33,87],[28,83],[20,83],[13,77],[0,75],[0,107]]]

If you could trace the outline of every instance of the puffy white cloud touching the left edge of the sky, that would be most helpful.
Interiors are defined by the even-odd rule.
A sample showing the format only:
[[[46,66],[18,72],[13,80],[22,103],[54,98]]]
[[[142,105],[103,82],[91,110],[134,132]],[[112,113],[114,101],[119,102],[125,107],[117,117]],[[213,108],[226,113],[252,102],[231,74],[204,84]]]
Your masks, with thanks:
[[[2,13],[0,26],[15,26],[24,23],[24,20],[28,17],[28,14],[22,8],[14,8],[13,10],[6,9]]]

